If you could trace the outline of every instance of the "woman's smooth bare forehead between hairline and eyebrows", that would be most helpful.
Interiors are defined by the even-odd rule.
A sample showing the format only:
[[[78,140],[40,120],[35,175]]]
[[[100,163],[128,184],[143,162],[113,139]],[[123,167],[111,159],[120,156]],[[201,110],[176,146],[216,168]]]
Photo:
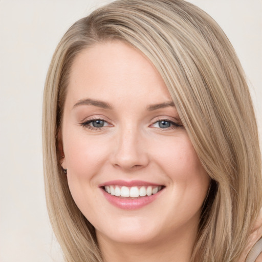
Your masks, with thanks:
[[[120,41],[105,42],[82,50],[69,78],[68,97],[105,100],[171,100],[154,65],[135,48]],[[150,101],[152,103],[159,101]]]

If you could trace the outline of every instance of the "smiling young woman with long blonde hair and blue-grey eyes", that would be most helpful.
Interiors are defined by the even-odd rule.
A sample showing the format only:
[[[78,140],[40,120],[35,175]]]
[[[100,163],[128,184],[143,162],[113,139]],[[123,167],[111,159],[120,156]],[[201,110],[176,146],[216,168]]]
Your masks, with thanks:
[[[205,12],[170,0],[94,11],[60,41],[43,104],[47,202],[67,261],[246,257],[262,206],[257,126]]]

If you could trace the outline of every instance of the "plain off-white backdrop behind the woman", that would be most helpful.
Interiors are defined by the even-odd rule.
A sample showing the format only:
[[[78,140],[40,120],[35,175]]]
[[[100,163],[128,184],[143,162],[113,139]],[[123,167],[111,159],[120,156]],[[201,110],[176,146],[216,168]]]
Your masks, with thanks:
[[[65,31],[112,1],[0,0],[0,261],[62,261],[43,186],[41,107]],[[191,0],[224,29],[246,72],[262,134],[262,0]],[[83,259],[84,260],[84,259]]]

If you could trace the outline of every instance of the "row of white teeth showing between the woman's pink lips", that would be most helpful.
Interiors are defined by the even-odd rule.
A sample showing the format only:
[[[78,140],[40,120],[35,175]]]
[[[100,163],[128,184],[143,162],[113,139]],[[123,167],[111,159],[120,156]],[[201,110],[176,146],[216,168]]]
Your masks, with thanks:
[[[149,197],[152,194],[156,194],[161,191],[164,186],[103,186],[105,192],[114,195],[115,197],[124,199],[138,199],[142,197]]]

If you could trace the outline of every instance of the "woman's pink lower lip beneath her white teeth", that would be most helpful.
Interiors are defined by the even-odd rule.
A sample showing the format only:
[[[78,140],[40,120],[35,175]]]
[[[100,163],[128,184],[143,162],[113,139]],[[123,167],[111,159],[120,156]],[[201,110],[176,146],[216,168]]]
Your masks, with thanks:
[[[125,199],[125,198],[118,198],[118,197],[115,197],[115,195],[108,194],[102,188],[101,190],[104,194],[104,197],[107,199],[108,202],[110,202],[112,205],[118,208],[127,209],[127,210],[139,209],[139,208],[142,208],[150,204],[151,202],[155,201],[159,197],[161,192],[163,191],[162,189],[159,192],[157,192],[156,194],[152,194],[152,195],[138,198],[138,199],[128,199],[128,198]]]

